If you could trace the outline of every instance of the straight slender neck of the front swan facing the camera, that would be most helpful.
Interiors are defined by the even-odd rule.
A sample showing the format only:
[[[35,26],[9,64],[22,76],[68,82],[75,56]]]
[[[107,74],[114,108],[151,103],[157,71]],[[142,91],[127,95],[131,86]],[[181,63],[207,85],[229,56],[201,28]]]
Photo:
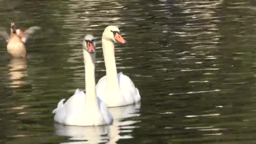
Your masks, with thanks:
[[[95,53],[90,54],[83,50],[83,59],[85,62],[85,93],[86,103],[94,104],[97,102],[96,88],[95,88]]]

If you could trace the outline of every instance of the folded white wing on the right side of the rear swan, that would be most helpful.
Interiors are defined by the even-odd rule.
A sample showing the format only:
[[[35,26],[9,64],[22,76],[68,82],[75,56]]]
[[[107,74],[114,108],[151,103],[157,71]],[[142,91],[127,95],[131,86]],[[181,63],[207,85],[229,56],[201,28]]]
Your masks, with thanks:
[[[139,90],[135,87],[130,77],[123,75],[122,72],[117,74],[119,86],[125,101],[138,102],[141,99]]]

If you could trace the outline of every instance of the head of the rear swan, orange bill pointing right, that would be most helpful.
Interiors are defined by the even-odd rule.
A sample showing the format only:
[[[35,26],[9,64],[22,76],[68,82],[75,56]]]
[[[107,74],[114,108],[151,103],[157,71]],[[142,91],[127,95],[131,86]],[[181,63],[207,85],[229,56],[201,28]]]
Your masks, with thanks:
[[[126,41],[121,36],[120,30],[115,26],[106,27],[102,34],[102,38],[104,38],[105,40],[111,40],[114,42],[126,43]]]

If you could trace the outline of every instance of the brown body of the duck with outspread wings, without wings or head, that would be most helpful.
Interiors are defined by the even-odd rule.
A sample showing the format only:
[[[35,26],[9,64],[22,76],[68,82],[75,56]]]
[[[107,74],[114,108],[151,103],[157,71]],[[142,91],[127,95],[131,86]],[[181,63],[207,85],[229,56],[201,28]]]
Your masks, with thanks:
[[[7,43],[7,52],[13,58],[25,58],[27,56],[26,47],[20,36],[15,33],[11,33]]]

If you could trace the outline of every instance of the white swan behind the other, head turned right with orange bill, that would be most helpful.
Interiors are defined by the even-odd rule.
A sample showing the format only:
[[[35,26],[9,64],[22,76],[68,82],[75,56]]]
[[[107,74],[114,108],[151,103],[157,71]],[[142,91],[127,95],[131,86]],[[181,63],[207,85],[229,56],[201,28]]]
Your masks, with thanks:
[[[107,107],[120,107],[140,101],[139,90],[132,80],[122,72],[117,74],[114,42],[125,43],[119,29],[115,26],[106,27],[101,40],[106,75],[96,85],[97,96]]]

